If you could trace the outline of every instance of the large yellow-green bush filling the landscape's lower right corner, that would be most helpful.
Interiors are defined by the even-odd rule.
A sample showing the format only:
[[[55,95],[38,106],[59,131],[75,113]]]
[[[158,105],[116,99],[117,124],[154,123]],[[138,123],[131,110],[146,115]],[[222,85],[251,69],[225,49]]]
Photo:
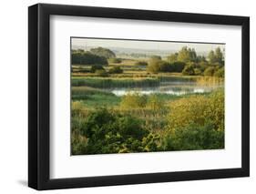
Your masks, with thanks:
[[[224,93],[181,98],[170,104],[164,150],[224,148]]]

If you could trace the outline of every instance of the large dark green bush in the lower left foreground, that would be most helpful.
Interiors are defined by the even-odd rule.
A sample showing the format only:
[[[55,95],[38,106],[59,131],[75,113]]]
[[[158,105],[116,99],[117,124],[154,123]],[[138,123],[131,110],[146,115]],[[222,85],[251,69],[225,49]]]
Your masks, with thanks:
[[[135,117],[122,116],[98,109],[88,115],[79,128],[80,136],[86,139],[81,144],[79,139],[72,141],[72,154],[106,154],[146,151],[143,146],[153,147],[152,142],[145,138],[148,131],[143,129],[142,123]],[[144,139],[144,141],[143,141]]]

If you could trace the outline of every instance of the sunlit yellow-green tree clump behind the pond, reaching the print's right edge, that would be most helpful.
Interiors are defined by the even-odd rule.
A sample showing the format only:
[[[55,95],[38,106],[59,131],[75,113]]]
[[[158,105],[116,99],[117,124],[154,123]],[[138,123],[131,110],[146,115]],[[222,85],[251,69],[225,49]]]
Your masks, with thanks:
[[[224,77],[224,56],[220,47],[211,50],[206,58],[198,56],[194,48],[184,46],[178,53],[168,56],[166,60],[160,56],[151,56],[148,72],[178,72],[187,76]]]

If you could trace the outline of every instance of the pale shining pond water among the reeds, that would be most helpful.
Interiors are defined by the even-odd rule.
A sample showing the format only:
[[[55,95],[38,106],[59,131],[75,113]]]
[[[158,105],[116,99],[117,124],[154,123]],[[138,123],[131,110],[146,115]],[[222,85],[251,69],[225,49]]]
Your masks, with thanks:
[[[169,95],[186,95],[186,94],[195,94],[195,93],[208,93],[214,89],[223,87],[223,85],[214,85],[214,86],[201,86],[197,85],[195,82],[169,82],[163,83],[159,87],[144,87],[144,88],[114,88],[110,92],[115,94],[118,97],[138,93],[141,95],[150,95],[150,94],[169,94]]]

